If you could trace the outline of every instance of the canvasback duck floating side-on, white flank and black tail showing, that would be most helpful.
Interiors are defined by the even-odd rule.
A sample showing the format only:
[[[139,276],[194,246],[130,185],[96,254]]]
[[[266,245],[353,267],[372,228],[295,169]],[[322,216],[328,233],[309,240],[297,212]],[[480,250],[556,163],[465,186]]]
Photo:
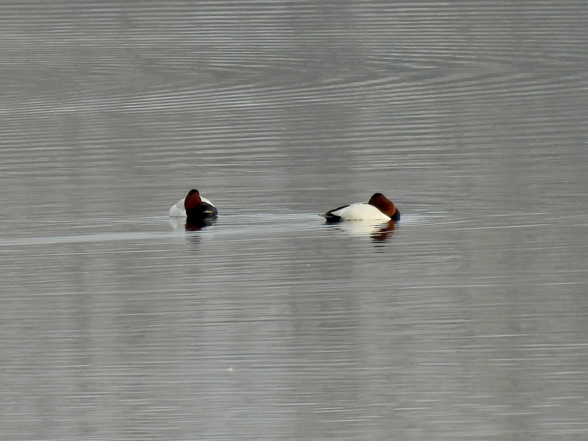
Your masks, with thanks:
[[[400,212],[392,201],[382,193],[375,193],[368,203],[358,202],[351,205],[343,205],[321,215],[327,222],[340,222],[342,220],[400,220]]]

